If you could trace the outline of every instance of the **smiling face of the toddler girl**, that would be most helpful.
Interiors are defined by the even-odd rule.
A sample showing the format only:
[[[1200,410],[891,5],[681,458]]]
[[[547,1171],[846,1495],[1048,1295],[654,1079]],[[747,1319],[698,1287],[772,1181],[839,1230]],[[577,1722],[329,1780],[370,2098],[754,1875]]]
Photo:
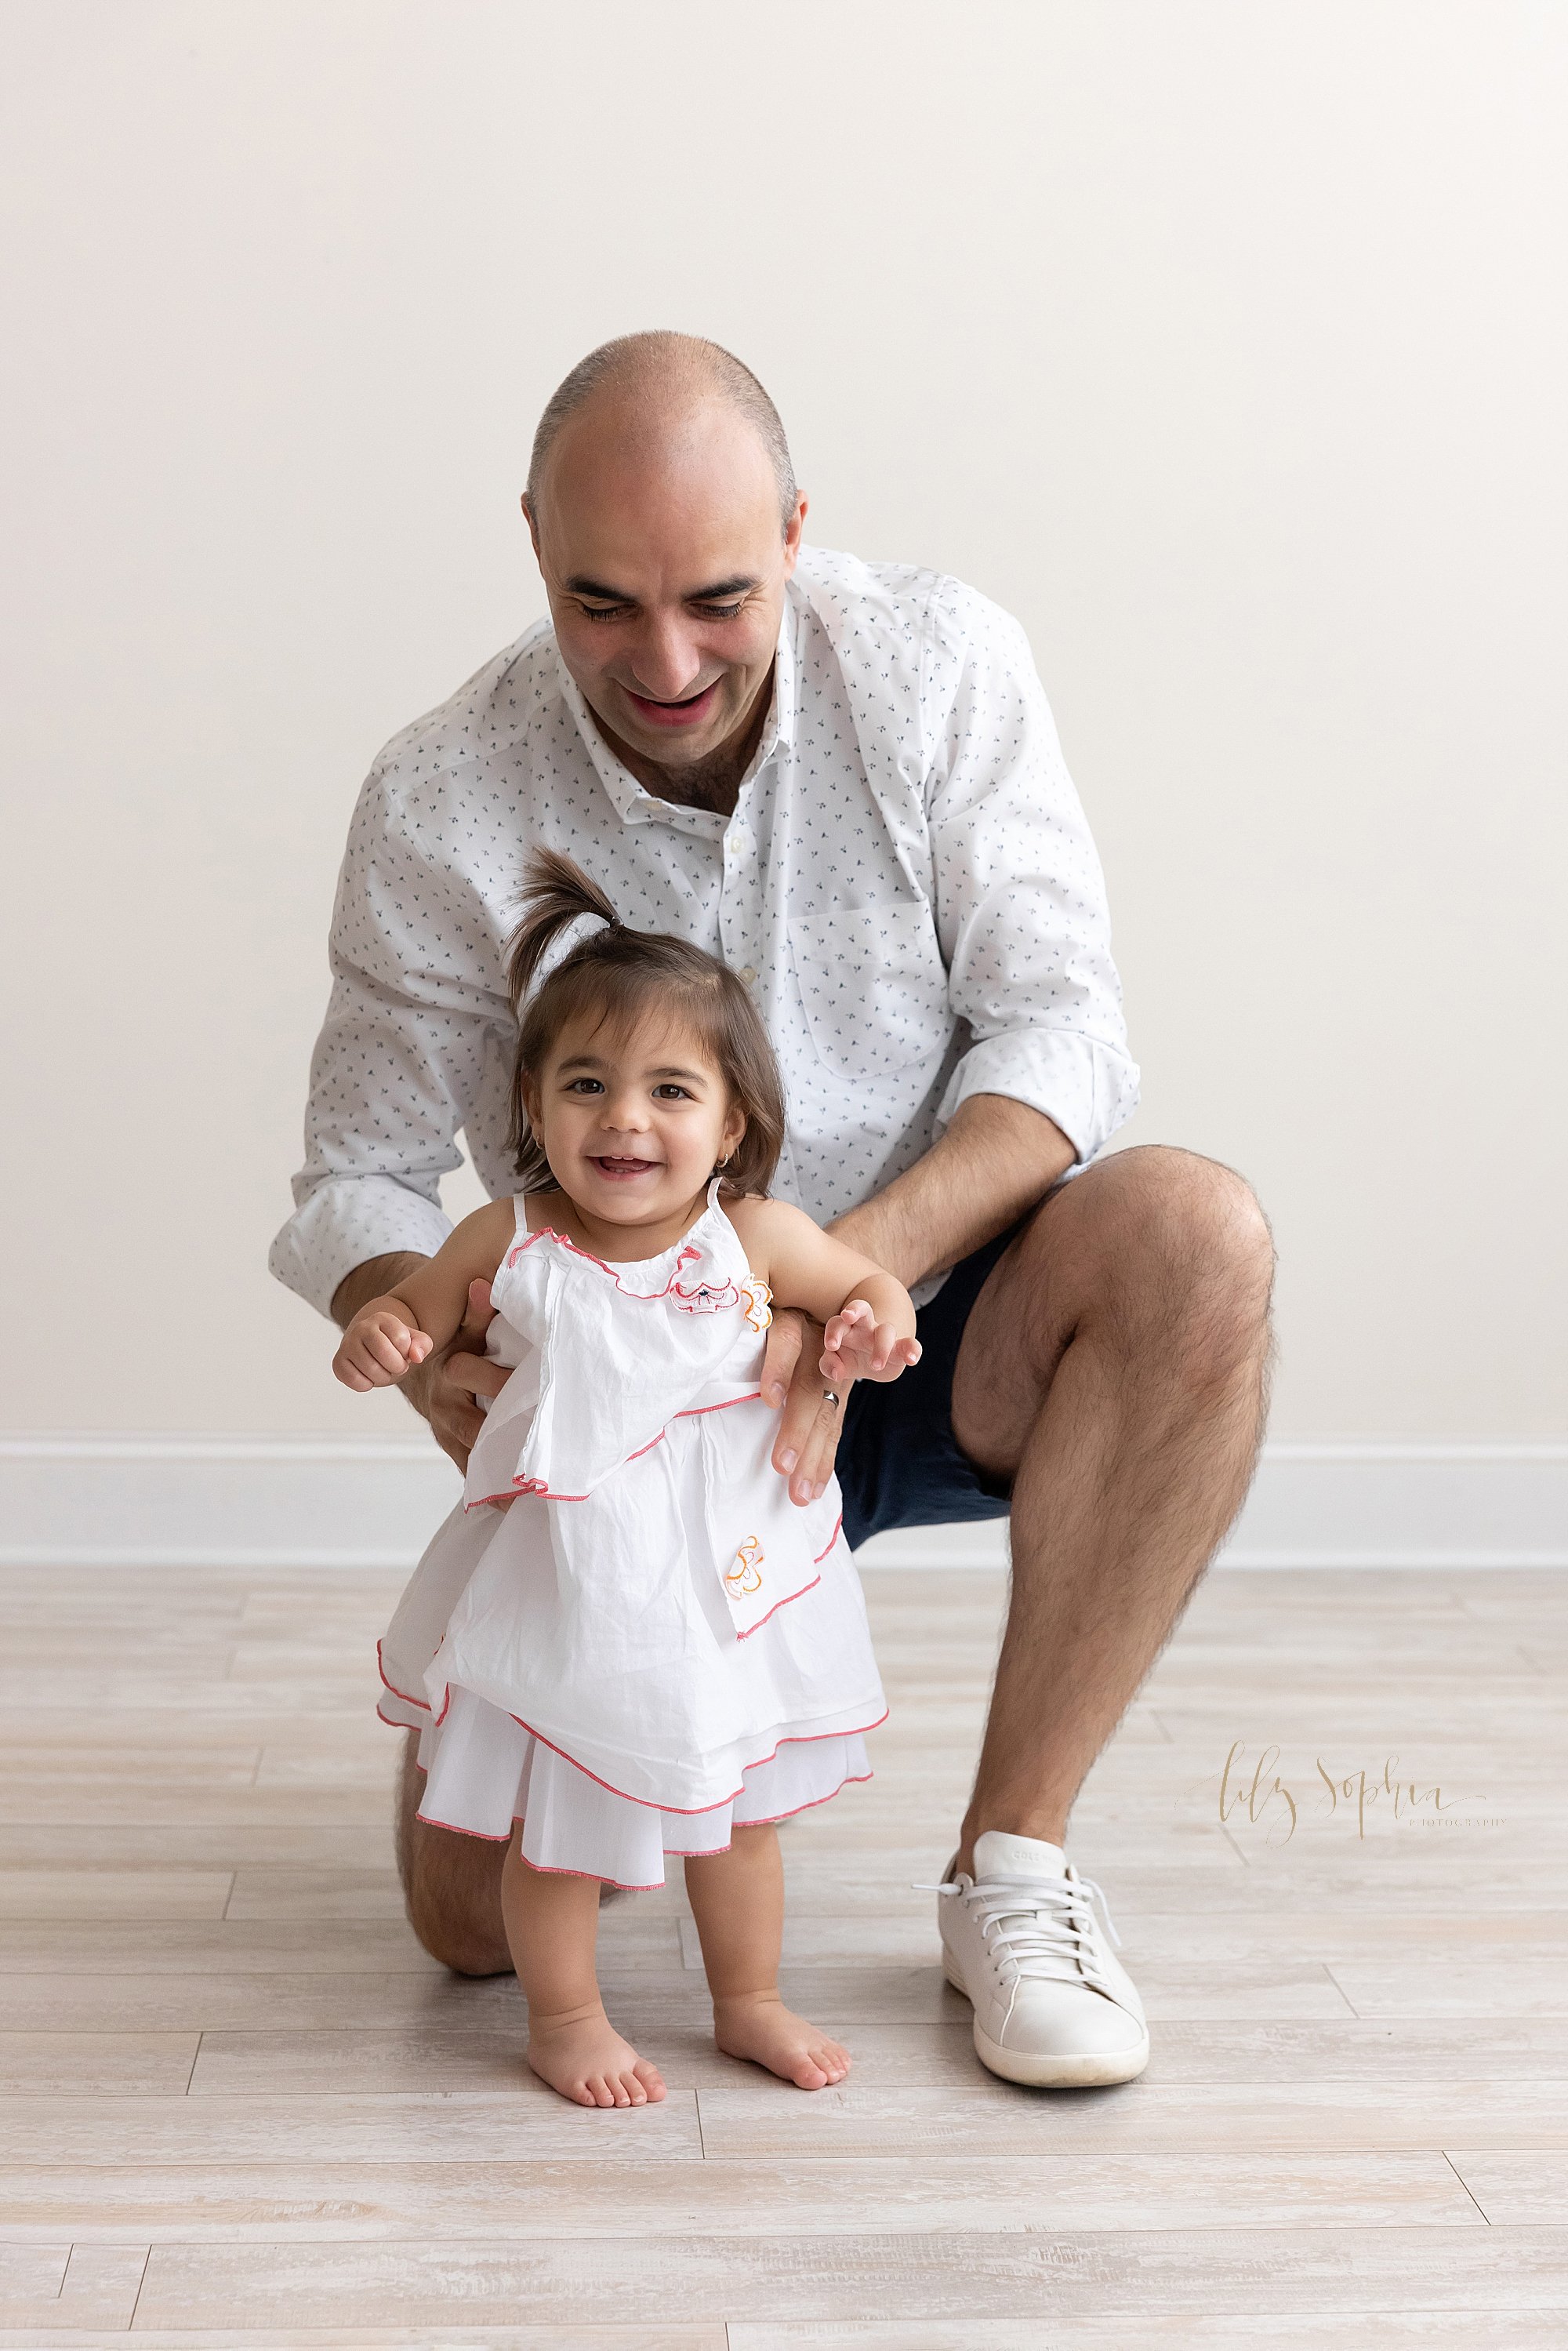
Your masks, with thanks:
[[[524,1103],[562,1192],[611,1225],[689,1208],[745,1133],[722,1072],[668,1020],[569,1023]]]

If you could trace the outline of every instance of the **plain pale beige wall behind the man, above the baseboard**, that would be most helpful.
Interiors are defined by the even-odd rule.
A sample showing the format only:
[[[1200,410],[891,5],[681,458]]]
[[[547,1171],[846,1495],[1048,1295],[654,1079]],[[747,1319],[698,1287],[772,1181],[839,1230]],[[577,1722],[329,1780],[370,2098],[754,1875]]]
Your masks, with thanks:
[[[1016,609],[1276,1432],[1561,1427],[1568,12],[7,9],[0,1425],[400,1429],[263,1277],[378,743],[538,609],[567,364],[696,327],[811,531]],[[1554,1166],[1556,1161],[1556,1166]]]

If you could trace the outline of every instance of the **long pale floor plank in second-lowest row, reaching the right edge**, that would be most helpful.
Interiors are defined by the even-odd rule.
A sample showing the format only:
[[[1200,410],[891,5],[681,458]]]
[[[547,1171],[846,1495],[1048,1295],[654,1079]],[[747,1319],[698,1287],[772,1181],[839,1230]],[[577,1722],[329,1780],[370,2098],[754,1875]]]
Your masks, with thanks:
[[[933,2233],[832,2238],[689,2236],[665,2257],[649,2241],[538,2238],[531,2245],[155,2245],[139,2327],[256,2327],[353,2309],[362,2325],[625,2320],[1034,2318],[1248,2311],[1269,2278],[1274,2306],[1324,2316],[1380,2309],[1561,2309],[1568,2231],[1453,2229],[1434,2264],[1432,2229],[1211,2229]]]

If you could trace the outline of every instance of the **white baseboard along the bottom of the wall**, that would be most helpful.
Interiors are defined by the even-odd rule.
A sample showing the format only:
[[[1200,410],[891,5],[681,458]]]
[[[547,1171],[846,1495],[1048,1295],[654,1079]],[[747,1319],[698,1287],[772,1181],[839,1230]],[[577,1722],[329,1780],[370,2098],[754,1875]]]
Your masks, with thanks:
[[[0,1436],[0,1566],[411,1566],[456,1500],[423,1436]],[[863,1566],[994,1566],[1004,1521],[879,1535]],[[1237,1568],[1563,1568],[1568,1446],[1272,1444]]]

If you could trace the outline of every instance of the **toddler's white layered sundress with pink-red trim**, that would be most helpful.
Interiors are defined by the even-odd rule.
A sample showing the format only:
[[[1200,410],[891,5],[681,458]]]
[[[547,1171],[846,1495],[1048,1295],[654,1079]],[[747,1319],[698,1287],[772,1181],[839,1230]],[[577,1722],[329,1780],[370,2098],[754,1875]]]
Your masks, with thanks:
[[[522,1820],[536,1869],[614,1886],[867,1780],[886,1719],[839,1483],[799,1507],[769,1460],[769,1291],[717,1194],[639,1262],[517,1201],[487,1335],[512,1378],[378,1646],[418,1817]]]

